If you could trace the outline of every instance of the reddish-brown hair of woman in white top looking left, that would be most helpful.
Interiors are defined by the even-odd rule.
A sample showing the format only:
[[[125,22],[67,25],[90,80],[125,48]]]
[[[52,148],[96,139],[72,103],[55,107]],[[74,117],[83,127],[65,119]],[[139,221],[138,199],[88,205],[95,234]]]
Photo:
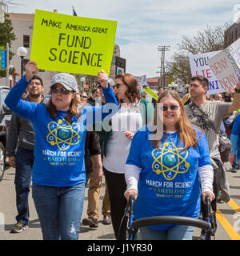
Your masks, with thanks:
[[[138,89],[138,81],[132,74],[120,73],[117,74],[115,79],[121,79],[122,82],[127,86],[126,97],[130,102],[139,101],[141,96]]]

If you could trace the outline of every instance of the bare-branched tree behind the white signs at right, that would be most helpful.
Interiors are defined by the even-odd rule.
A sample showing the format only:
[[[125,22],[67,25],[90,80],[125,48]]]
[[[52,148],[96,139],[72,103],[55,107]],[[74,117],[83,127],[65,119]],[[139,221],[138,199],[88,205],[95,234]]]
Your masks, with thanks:
[[[190,37],[182,35],[182,41],[178,43],[178,52],[175,52],[172,60],[166,63],[166,69],[175,78],[189,83],[191,78],[189,55],[203,54],[215,50],[224,49],[224,32],[230,27],[226,22],[222,26],[206,26],[205,30],[198,31],[197,35]]]

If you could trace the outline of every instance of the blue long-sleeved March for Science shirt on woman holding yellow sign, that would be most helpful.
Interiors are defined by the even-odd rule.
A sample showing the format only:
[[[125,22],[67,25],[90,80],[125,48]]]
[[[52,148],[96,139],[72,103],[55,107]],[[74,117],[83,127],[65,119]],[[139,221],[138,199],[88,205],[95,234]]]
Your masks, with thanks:
[[[43,186],[74,186],[86,181],[84,150],[86,129],[101,122],[110,113],[118,111],[113,90],[103,89],[104,106],[83,106],[81,117],[72,122],[65,120],[66,111],[57,110],[57,118],[50,117],[45,104],[21,99],[29,82],[25,76],[6,96],[6,105],[22,118],[30,119],[34,126],[34,166],[32,180]]]

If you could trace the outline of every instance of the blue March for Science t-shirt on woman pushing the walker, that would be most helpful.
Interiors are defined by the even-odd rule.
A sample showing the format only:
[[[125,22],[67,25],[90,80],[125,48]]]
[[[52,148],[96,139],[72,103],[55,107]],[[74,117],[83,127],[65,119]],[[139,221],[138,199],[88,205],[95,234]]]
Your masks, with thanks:
[[[194,127],[195,128],[195,127]],[[142,127],[134,135],[127,165],[141,168],[138,198],[134,202],[134,218],[160,215],[198,218],[200,213],[200,181],[198,166],[211,165],[206,135],[195,128],[198,147],[182,151],[177,132],[163,134],[159,148],[149,139],[150,131]],[[151,226],[167,230],[171,225]]]

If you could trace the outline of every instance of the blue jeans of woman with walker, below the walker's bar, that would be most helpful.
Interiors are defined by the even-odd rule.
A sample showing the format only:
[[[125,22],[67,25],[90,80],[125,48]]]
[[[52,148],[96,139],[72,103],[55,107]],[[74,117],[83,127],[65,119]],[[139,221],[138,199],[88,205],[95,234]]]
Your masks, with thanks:
[[[169,230],[154,230],[148,226],[140,227],[142,240],[192,240],[194,226],[179,225]]]

